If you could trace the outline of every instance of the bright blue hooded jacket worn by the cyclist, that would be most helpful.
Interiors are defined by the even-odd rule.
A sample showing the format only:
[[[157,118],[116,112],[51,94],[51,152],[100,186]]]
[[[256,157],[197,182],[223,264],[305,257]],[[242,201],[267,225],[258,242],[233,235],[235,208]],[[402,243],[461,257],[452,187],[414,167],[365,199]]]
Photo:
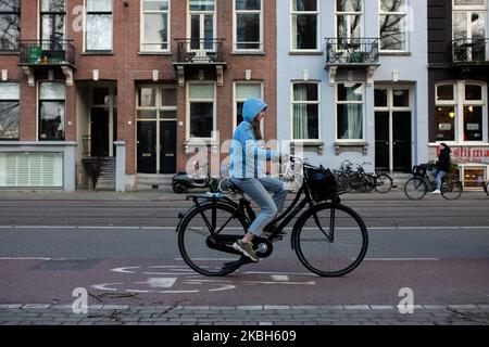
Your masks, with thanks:
[[[242,106],[243,121],[236,128],[230,146],[230,176],[235,178],[265,177],[266,160],[278,159],[278,153],[262,147],[252,126],[253,119],[267,104],[260,99],[250,98]]]

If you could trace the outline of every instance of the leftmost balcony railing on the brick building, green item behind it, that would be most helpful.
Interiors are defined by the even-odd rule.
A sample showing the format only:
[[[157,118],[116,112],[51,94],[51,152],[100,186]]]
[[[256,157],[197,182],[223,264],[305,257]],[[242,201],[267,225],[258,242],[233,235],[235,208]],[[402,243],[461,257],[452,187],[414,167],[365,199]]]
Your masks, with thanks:
[[[21,65],[72,65],[75,66],[73,40],[23,40]]]

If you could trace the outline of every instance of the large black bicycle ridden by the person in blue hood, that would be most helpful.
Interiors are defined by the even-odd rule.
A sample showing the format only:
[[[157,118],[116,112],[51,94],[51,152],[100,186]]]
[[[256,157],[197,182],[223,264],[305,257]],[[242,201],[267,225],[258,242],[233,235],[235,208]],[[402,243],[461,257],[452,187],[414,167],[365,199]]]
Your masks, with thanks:
[[[265,227],[267,236],[253,237],[259,258],[273,254],[273,244],[283,240],[283,230],[304,207],[291,232],[291,247],[299,261],[321,277],[340,277],[353,271],[367,252],[367,228],[352,208],[341,204],[333,174],[292,157],[303,166],[302,187],[290,206]],[[317,177],[327,178],[318,181]],[[329,184],[325,184],[328,182]],[[333,187],[325,189],[326,185]],[[322,189],[319,189],[319,187]],[[185,262],[208,277],[229,274],[251,260],[233,248],[243,237],[255,214],[236,185],[239,202],[221,194],[193,195],[193,206],[179,215],[176,228],[178,249]]]

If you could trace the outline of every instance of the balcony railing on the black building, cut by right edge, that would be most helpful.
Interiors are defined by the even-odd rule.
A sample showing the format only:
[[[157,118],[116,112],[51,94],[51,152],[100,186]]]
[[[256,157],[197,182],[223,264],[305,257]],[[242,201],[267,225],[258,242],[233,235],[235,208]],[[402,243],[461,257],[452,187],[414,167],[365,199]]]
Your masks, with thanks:
[[[489,39],[452,41],[453,63],[489,63]]]

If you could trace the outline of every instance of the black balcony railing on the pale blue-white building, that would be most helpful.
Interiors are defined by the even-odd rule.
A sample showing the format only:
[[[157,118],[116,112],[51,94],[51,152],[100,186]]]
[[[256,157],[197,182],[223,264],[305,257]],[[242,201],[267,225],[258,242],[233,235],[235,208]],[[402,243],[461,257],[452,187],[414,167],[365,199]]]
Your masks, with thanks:
[[[378,63],[378,39],[326,39],[327,65],[371,65]]]

